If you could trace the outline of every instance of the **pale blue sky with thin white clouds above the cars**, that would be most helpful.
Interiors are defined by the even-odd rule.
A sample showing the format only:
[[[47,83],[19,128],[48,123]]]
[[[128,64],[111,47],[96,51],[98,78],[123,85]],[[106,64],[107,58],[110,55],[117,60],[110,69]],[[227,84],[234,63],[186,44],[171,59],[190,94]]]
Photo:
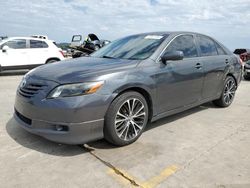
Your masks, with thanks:
[[[195,31],[231,50],[250,48],[250,0],[0,0],[0,35],[70,42],[150,31]]]

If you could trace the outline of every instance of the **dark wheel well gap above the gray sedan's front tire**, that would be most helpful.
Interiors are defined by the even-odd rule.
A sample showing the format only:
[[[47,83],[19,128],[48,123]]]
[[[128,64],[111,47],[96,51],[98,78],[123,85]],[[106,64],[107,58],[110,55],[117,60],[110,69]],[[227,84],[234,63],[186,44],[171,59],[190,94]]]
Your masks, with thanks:
[[[145,97],[147,104],[148,104],[148,119],[149,121],[152,119],[153,117],[153,102],[152,102],[152,98],[150,96],[150,94],[145,90],[142,89],[140,87],[131,87],[128,89],[123,90],[122,92],[120,92],[116,97],[118,97],[119,95],[121,95],[122,93],[128,92],[128,91],[135,91],[140,93],[143,97]]]

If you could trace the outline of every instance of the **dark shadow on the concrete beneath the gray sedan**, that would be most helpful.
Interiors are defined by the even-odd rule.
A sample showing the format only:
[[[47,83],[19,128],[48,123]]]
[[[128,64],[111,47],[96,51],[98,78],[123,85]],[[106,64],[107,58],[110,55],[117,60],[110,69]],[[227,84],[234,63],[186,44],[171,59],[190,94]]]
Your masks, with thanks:
[[[202,110],[206,110],[208,108],[216,108],[216,107],[212,103],[203,104],[201,106],[186,110],[184,112],[162,118],[156,122],[149,123],[145,131],[150,131],[151,129],[154,129],[163,125],[168,126],[173,121],[176,121],[180,118],[200,112]],[[33,135],[25,131],[23,128],[19,127],[13,118],[11,118],[6,124],[6,130],[7,130],[7,133],[10,135],[10,137],[13,140],[15,140],[17,143],[19,143],[20,145],[26,148],[39,151],[41,153],[57,155],[57,156],[74,156],[74,155],[80,155],[80,154],[87,152],[87,150],[85,150],[83,147],[79,147],[79,145],[58,144],[58,143],[46,140],[40,136]],[[117,148],[117,146],[114,146],[108,143],[104,139],[90,142],[88,143],[88,145],[96,149]]]

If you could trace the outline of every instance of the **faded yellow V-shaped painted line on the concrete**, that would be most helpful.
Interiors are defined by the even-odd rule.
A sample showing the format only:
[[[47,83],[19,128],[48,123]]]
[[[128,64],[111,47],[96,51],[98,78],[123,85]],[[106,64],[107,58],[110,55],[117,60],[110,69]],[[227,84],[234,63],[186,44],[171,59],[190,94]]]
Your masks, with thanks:
[[[124,170],[119,169],[120,172],[123,173],[124,176],[129,178],[130,180],[133,180],[139,187],[143,188],[154,188],[157,185],[159,185],[161,182],[163,182],[165,179],[167,179],[169,176],[173,175],[179,168],[175,165],[169,166],[165,168],[161,173],[145,182],[142,182],[135,178],[134,176],[131,176]],[[107,172],[109,175],[112,175],[117,181],[119,181],[124,186],[131,186],[131,182],[122,177],[121,175],[117,174],[113,169],[109,169]],[[131,187],[138,187],[138,186],[131,186]]]

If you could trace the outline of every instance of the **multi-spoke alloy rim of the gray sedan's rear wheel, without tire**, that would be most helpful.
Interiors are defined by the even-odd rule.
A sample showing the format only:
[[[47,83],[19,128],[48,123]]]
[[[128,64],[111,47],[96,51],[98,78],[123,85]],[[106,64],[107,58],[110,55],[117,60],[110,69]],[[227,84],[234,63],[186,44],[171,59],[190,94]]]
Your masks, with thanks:
[[[229,79],[226,83],[223,93],[224,102],[229,105],[232,103],[236,91],[236,84],[233,79]]]

